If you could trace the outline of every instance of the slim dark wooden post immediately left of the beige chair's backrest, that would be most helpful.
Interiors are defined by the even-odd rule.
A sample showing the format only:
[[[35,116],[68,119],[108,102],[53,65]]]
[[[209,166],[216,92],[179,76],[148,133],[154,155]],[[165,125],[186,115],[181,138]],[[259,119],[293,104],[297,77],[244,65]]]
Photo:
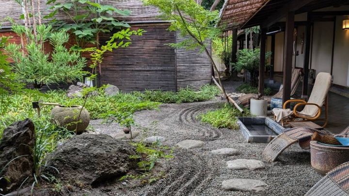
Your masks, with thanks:
[[[305,52],[303,65],[303,87],[302,98],[308,98],[308,73],[309,73],[309,58],[310,58],[310,40],[311,40],[311,23],[310,15],[308,13],[307,23],[305,27]]]

